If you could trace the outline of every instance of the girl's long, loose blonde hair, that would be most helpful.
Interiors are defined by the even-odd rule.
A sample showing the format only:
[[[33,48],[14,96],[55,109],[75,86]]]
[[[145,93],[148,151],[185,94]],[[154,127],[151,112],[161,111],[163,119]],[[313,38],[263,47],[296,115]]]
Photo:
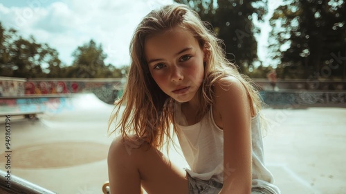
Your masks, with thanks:
[[[145,139],[155,148],[162,147],[165,136],[168,137],[167,141],[172,139],[170,124],[174,123],[174,100],[158,87],[149,73],[144,44],[147,37],[178,25],[189,30],[208,55],[208,61],[204,64],[204,80],[197,92],[201,107],[197,113],[198,118],[205,115],[212,105],[214,83],[225,76],[233,76],[242,82],[251,101],[252,113],[255,109],[260,109],[260,98],[251,85],[251,80],[242,76],[235,64],[226,59],[222,42],[210,26],[203,23],[197,12],[190,10],[188,6],[172,4],[149,12],[134,32],[130,44],[131,66],[127,84],[122,97],[115,103],[115,112],[109,120],[109,126],[118,116],[121,118],[111,133],[120,129],[122,137],[130,140],[133,138],[129,138],[129,134],[135,134],[138,139]],[[123,112],[120,111],[121,106],[125,106]]]

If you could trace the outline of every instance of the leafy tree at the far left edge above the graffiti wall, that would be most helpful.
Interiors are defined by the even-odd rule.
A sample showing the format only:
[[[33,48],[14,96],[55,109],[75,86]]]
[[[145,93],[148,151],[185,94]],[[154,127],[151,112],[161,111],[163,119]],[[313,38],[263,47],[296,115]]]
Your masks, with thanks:
[[[39,44],[33,36],[28,39],[6,30],[0,24],[0,76],[44,78],[47,73],[60,72],[60,59],[48,44]]]

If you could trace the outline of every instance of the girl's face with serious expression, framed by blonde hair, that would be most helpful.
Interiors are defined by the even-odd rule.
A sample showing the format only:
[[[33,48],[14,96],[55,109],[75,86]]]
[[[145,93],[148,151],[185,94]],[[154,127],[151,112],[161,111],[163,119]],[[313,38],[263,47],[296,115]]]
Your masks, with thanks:
[[[205,51],[188,30],[177,26],[145,41],[145,59],[158,87],[180,103],[192,100],[204,77]]]

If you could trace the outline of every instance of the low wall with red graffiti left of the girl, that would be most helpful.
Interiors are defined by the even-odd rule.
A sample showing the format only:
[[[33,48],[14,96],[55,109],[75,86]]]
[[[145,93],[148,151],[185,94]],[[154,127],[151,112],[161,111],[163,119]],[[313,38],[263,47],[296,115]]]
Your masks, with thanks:
[[[121,96],[124,84],[124,80],[117,78],[33,78],[27,80],[25,78],[0,77],[0,99],[30,97],[44,100],[43,97],[69,97],[72,94],[93,93],[104,103],[113,104],[114,100]],[[28,102],[30,104],[30,100]],[[21,102],[19,101],[17,104],[20,107]],[[29,104],[26,107],[32,109],[31,107],[34,105],[40,107],[42,103]],[[3,109],[3,107],[1,108]],[[39,109],[37,108],[38,112]]]

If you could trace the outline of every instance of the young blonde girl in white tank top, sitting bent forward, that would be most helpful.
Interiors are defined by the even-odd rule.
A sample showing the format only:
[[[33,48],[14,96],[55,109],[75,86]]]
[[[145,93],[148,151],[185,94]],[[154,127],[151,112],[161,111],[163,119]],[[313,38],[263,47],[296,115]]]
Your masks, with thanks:
[[[141,186],[165,194],[280,193],[264,166],[257,91],[196,12],[175,4],[152,10],[130,53],[110,120],[120,119],[122,134],[109,148],[111,193],[140,193]],[[159,151],[172,131],[190,169]]]

